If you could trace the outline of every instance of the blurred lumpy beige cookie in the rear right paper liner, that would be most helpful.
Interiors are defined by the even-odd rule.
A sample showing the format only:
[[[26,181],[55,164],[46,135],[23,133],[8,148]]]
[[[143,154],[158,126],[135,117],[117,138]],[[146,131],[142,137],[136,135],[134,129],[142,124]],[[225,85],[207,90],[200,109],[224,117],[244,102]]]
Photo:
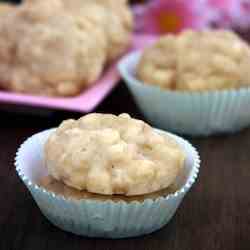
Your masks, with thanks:
[[[250,86],[250,48],[226,30],[166,35],[147,48],[137,77],[146,84],[181,91]]]

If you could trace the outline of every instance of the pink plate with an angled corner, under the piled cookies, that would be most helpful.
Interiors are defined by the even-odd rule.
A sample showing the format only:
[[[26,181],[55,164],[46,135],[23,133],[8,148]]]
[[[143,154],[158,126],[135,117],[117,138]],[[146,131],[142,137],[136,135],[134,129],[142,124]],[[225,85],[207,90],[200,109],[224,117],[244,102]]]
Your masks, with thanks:
[[[154,38],[151,36],[134,36],[132,49],[143,48],[150,44]],[[7,104],[20,104],[30,107],[43,107],[77,112],[90,112],[111,92],[118,84],[120,75],[117,63],[111,65],[102,77],[89,89],[84,90],[75,97],[46,97],[26,94],[17,94],[9,91],[0,91],[0,102]]]

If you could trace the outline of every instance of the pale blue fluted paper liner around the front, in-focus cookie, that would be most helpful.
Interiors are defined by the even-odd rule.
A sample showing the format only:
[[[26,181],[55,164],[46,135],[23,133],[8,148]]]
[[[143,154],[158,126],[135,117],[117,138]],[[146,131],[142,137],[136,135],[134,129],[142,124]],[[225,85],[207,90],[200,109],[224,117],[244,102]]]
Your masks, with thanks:
[[[47,175],[43,147],[52,131],[33,135],[20,146],[16,155],[16,170],[45,217],[55,226],[74,234],[125,238],[160,229],[173,217],[198,175],[200,158],[195,148],[180,137],[169,134],[187,155],[182,176],[176,180],[181,188],[174,194],[143,202],[67,199],[36,184]]]

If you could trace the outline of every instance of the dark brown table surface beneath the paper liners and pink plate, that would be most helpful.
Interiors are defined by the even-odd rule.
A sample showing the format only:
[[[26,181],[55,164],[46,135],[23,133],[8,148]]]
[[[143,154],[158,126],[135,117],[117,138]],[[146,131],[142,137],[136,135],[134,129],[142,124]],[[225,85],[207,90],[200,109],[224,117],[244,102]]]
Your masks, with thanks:
[[[97,111],[128,112],[143,119],[123,84]],[[65,118],[80,116],[63,112],[42,116],[36,112],[38,115],[0,112],[1,250],[250,249],[250,129],[234,135],[188,138],[200,151],[201,172],[175,217],[163,229],[134,239],[87,239],[51,225],[16,175],[14,155],[25,138]]]

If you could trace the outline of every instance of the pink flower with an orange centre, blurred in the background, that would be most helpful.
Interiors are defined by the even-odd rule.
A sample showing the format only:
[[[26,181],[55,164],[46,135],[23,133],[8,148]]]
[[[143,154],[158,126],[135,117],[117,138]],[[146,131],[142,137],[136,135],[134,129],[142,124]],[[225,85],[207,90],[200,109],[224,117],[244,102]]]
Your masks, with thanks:
[[[135,8],[137,28],[151,34],[204,28],[209,23],[209,11],[204,3],[199,0],[153,0],[144,8]]]

